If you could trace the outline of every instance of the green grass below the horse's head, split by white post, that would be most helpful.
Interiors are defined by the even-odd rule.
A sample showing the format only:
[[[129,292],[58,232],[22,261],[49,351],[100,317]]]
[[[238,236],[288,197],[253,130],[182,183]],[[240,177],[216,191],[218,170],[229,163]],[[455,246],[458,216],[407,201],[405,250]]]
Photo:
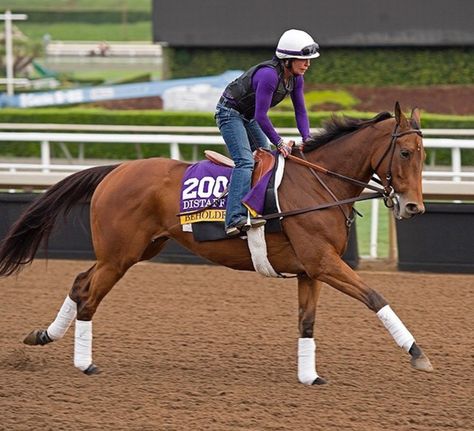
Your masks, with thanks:
[[[371,223],[371,201],[358,202],[356,208],[364,217],[357,217],[357,244],[359,255],[368,256],[370,254],[370,223]],[[382,201],[379,201],[379,230],[378,230],[378,257],[388,256],[388,218],[391,213],[385,208]]]

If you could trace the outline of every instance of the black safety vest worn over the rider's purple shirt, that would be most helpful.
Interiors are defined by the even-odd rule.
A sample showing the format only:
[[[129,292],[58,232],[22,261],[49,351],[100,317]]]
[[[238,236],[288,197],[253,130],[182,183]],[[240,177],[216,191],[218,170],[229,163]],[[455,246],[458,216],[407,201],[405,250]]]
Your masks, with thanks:
[[[248,119],[255,115],[255,90],[252,88],[252,77],[258,69],[268,66],[273,67],[278,73],[278,87],[273,93],[270,106],[277,105],[293,91],[295,85],[294,76],[291,76],[288,84],[285,85],[283,64],[277,58],[251,67],[247,72],[232,81],[224,90],[224,97]]]

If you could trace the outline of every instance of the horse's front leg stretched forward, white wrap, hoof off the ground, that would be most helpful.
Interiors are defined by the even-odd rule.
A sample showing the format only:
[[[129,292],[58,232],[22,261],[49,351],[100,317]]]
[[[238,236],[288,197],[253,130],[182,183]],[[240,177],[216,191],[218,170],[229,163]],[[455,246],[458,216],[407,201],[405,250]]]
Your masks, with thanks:
[[[327,255],[322,267],[325,270],[320,274],[320,280],[363,302],[377,314],[395,342],[410,354],[410,362],[414,368],[433,371],[428,357],[382,295],[367,286],[339,256]]]

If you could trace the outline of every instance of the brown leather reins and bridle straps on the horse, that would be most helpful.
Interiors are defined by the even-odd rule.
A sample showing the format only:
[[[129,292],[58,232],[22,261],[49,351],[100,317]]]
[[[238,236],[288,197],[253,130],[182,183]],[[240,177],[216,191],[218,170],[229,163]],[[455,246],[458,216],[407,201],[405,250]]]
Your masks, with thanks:
[[[326,168],[324,168],[320,165],[317,165],[316,163],[312,163],[312,162],[306,160],[303,152],[301,151],[301,147],[299,147],[298,150],[299,150],[299,153],[300,153],[300,157],[296,157],[296,156],[293,156],[293,155],[290,154],[290,155],[288,155],[287,158],[289,160],[295,162],[295,163],[298,163],[299,165],[302,165],[302,166],[305,166],[305,167],[309,168],[309,170],[311,171],[313,176],[316,177],[316,179],[319,181],[319,183],[324,187],[324,189],[334,199],[334,202],[327,202],[327,203],[315,205],[315,206],[312,206],[312,207],[309,207],[309,208],[302,208],[302,209],[296,209],[296,210],[290,210],[290,211],[283,211],[283,212],[279,212],[279,213],[267,214],[267,215],[261,216],[259,218],[262,218],[262,219],[265,219],[265,220],[271,220],[271,219],[275,219],[275,218],[290,217],[290,216],[294,216],[294,215],[305,214],[305,213],[312,212],[312,211],[317,211],[317,210],[321,210],[321,209],[326,209],[326,208],[331,208],[331,207],[338,206],[341,209],[342,213],[344,214],[344,217],[346,219],[346,225],[349,228],[352,225],[352,223],[354,221],[354,218],[346,213],[346,211],[343,208],[343,205],[352,204],[354,202],[365,201],[365,200],[369,200],[369,199],[383,198],[385,206],[389,209],[392,209],[396,204],[395,190],[392,187],[392,163],[393,163],[393,157],[394,157],[394,154],[395,154],[395,147],[396,147],[397,139],[400,138],[401,136],[405,136],[405,135],[409,135],[409,134],[413,134],[413,133],[416,133],[418,136],[423,136],[421,130],[419,130],[419,129],[410,129],[410,130],[406,130],[404,132],[398,132],[398,127],[399,127],[399,125],[397,124],[395,126],[395,129],[394,129],[392,135],[391,135],[390,145],[387,147],[387,149],[383,153],[382,157],[380,158],[380,160],[376,164],[375,168],[373,169],[373,172],[376,172],[377,169],[382,164],[382,162],[384,161],[384,159],[387,157],[387,155],[390,154],[390,161],[389,161],[389,165],[388,165],[388,170],[387,170],[387,173],[385,174],[386,184],[383,184],[383,182],[381,180],[379,180],[377,177],[374,177],[374,176],[371,177],[370,181],[374,181],[377,184],[379,184],[380,186],[369,184],[368,182],[360,181],[360,180],[357,180],[355,178],[351,178],[351,177],[348,177],[346,175],[339,174],[338,172],[334,172],[334,171],[331,171],[329,169],[326,169]],[[350,182],[352,184],[356,184],[358,186],[373,190],[375,193],[371,193],[368,196],[360,196],[359,195],[359,196],[355,196],[355,197],[352,197],[352,198],[339,200],[334,195],[334,193],[331,191],[331,189],[320,178],[320,176],[317,174],[317,172],[321,172],[325,175],[336,177],[336,178],[339,178],[340,180]],[[356,210],[354,209],[354,211],[356,211]]]

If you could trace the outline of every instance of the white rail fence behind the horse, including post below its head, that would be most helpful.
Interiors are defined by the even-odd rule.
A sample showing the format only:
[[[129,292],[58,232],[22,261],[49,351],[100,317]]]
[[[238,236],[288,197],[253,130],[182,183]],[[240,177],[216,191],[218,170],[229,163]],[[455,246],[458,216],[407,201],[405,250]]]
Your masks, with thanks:
[[[18,124],[0,124],[0,130],[18,129]],[[33,130],[33,126],[22,125],[24,130]],[[59,128],[60,130],[79,130],[77,125],[42,125],[43,130],[48,128]],[[81,130],[94,131],[95,133],[57,133],[57,132],[0,132],[1,142],[38,142],[41,146],[40,163],[2,163],[0,162],[0,186],[3,188],[18,189],[27,187],[46,188],[61,180],[71,172],[78,171],[91,165],[85,163],[84,147],[86,143],[131,143],[131,144],[167,144],[170,148],[170,156],[180,160],[180,145],[193,146],[193,160],[197,159],[197,148],[199,145],[224,145],[222,137],[217,128],[195,128],[195,127],[167,127],[167,126],[105,126],[105,125],[82,125]],[[98,131],[114,133],[97,133]],[[143,133],[147,132],[155,133]],[[129,133],[117,133],[117,132]],[[130,133],[130,132],[142,133]],[[156,133],[160,131],[161,133]],[[163,132],[174,132],[175,134],[164,134]],[[177,132],[188,133],[187,135],[176,134]],[[295,139],[296,129],[279,129],[280,134]],[[192,135],[191,133],[201,133]],[[202,133],[207,133],[203,135]],[[474,137],[474,130],[439,130],[428,129],[423,131],[425,136],[463,136]],[[290,135],[290,136],[288,136]],[[51,144],[79,143],[79,164],[69,157],[71,164],[54,164],[51,160]],[[449,139],[449,138],[425,138],[425,148],[450,149],[451,166],[449,170],[431,170],[429,166],[423,172],[423,190],[427,199],[446,200],[474,200],[474,167],[464,169],[461,163],[461,150],[474,150],[474,139]],[[67,153],[67,148],[65,152]],[[110,163],[110,161],[107,161]],[[448,181],[448,179],[450,179]],[[378,201],[372,204],[372,226],[370,239],[370,257],[376,258],[378,242]]]

